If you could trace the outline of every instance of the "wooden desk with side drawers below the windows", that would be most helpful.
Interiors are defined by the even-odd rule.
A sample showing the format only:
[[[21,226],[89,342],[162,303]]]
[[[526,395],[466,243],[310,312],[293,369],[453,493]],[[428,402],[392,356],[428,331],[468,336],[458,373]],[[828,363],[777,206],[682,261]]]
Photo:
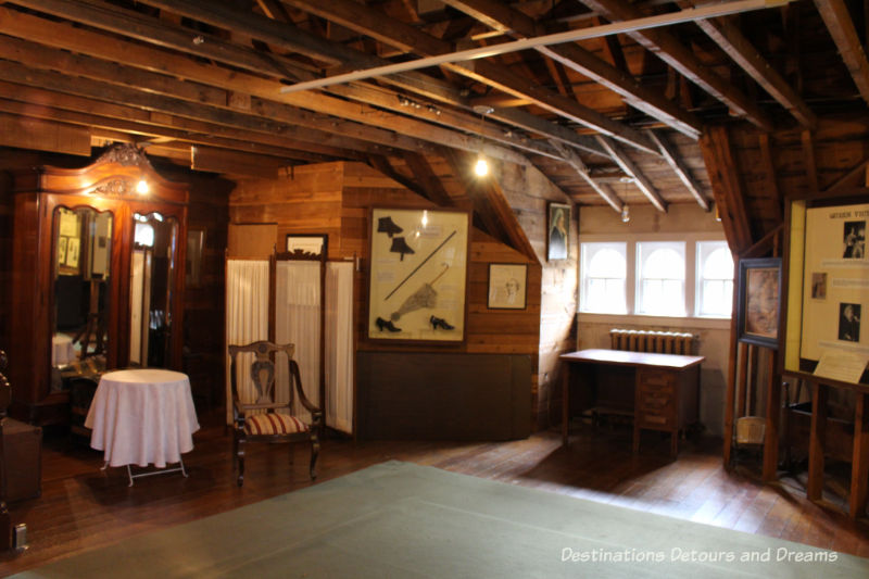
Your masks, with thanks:
[[[571,375],[577,366],[620,366],[631,368],[634,374],[633,452],[640,450],[640,430],[650,429],[670,432],[670,452],[677,454],[679,430],[697,420],[700,366],[705,357],[622,350],[581,350],[559,357],[567,363],[562,388],[565,445],[570,429]]]

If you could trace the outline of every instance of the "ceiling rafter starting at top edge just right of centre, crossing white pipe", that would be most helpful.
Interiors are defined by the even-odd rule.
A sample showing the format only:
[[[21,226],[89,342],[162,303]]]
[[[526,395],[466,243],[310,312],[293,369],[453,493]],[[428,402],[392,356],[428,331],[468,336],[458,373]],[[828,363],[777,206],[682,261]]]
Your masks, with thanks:
[[[445,0],[445,3],[496,30],[512,32],[513,36],[532,38],[555,32],[544,28],[532,17],[496,0]],[[695,140],[700,137],[701,123],[696,116],[680,109],[660,93],[643,87],[625,71],[601,60],[579,45],[567,42],[540,47],[537,50],[618,93],[628,104],[665,125]]]

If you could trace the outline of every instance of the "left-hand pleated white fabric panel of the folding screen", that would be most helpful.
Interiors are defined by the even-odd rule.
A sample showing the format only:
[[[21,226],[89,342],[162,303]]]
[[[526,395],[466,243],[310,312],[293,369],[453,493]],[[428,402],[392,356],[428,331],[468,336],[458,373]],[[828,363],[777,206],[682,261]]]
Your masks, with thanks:
[[[243,345],[268,339],[268,261],[227,260],[226,343]],[[253,354],[238,360],[238,388],[242,400],[254,399],[253,382],[245,368]],[[229,354],[226,354],[226,424],[232,424],[232,391]]]

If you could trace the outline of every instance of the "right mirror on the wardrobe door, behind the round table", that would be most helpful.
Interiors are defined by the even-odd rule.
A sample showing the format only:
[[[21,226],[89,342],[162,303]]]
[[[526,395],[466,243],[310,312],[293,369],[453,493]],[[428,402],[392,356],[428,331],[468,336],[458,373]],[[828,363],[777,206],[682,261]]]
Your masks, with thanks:
[[[178,221],[135,213],[129,265],[129,364],[166,367],[172,352],[172,301]]]

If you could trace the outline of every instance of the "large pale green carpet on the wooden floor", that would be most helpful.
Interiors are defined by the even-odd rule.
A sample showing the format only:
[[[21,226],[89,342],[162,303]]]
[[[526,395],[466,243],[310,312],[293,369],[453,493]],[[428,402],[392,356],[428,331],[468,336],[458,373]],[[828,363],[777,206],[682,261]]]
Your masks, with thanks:
[[[15,577],[740,576],[865,579],[869,559],[389,462]]]

